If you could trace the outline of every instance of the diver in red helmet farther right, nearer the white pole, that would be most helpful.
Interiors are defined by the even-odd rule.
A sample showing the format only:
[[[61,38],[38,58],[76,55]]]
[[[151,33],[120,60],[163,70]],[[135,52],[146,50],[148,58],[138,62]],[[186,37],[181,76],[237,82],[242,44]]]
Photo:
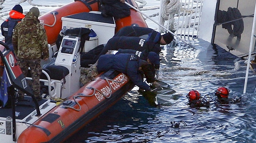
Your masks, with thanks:
[[[230,90],[226,87],[219,87],[215,92],[215,96],[218,97],[218,100],[221,103],[239,103],[241,101],[241,97],[235,97],[234,99],[229,98],[229,91]]]

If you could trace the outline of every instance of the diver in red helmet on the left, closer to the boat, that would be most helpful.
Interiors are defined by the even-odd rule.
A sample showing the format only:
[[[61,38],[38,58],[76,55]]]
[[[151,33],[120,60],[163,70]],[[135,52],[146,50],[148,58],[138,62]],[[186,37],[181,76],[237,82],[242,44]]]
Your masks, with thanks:
[[[190,107],[209,107],[210,102],[213,101],[210,97],[201,97],[200,93],[193,89],[186,97],[189,99]]]

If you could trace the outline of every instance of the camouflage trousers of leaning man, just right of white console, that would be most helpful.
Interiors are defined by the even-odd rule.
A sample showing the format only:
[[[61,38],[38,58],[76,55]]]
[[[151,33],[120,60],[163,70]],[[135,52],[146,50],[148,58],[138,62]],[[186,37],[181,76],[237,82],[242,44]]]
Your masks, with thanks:
[[[98,65],[98,61],[96,61],[96,63],[91,65],[91,67],[89,68],[81,67],[81,76],[79,80],[82,84],[84,85],[87,84],[98,75],[97,65]]]

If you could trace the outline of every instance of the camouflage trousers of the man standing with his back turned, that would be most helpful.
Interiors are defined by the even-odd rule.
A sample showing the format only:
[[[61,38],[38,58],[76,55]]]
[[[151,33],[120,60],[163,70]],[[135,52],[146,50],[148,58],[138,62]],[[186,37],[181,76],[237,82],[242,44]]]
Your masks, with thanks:
[[[40,75],[42,73],[42,67],[40,65],[40,59],[22,59],[19,58],[19,65],[22,73],[27,76],[28,74],[28,67],[30,67],[30,74],[32,78],[32,90],[35,97],[40,96]],[[19,91],[19,96],[24,97],[24,93]]]

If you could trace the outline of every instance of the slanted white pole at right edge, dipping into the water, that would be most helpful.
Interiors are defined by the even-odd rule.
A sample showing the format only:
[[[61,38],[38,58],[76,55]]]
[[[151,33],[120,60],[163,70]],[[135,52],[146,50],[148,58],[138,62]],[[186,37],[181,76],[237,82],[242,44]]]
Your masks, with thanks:
[[[256,23],[256,3],[255,3],[255,9],[254,9],[254,17],[253,17],[253,23],[252,23],[252,35],[251,35],[249,55],[248,55],[246,74],[245,74],[245,85],[243,87],[243,93],[244,94],[246,93],[248,74],[249,74],[249,65],[250,65],[250,62],[251,62],[252,48],[254,47],[253,42],[254,42],[255,23]]]

